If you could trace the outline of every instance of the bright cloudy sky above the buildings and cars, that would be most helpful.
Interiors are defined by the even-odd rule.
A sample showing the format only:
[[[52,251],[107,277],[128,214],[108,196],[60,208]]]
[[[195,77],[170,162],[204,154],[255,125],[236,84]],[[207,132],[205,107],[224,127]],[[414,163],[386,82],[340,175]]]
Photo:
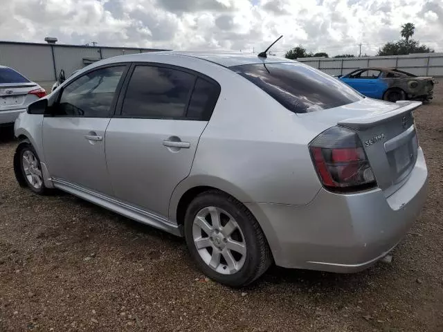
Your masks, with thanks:
[[[373,55],[415,24],[415,39],[443,52],[443,0],[8,0],[0,40],[98,42],[181,50],[265,48],[277,55],[302,44],[329,55]]]

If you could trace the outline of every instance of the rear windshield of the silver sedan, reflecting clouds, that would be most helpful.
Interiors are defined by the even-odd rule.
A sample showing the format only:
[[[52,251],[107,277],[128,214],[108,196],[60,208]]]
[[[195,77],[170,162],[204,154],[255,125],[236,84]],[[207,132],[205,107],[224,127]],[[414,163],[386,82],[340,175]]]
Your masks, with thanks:
[[[336,78],[299,62],[230,67],[294,113],[331,109],[363,95]]]

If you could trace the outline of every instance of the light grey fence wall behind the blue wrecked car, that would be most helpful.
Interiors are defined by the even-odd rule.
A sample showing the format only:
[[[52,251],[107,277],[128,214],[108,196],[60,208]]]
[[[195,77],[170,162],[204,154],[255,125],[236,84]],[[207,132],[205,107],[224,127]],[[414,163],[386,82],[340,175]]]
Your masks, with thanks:
[[[419,76],[443,77],[443,53],[393,55],[390,57],[299,58],[330,75],[345,75],[358,68],[393,67]]]

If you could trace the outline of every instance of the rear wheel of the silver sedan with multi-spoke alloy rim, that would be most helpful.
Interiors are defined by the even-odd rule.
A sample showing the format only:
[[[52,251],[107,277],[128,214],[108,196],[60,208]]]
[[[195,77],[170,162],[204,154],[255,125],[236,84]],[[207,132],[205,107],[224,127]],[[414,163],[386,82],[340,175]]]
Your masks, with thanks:
[[[218,230],[217,221],[221,226]],[[219,190],[195,197],[186,211],[184,231],[198,268],[221,284],[231,287],[251,284],[273,261],[262,229],[251,212]]]

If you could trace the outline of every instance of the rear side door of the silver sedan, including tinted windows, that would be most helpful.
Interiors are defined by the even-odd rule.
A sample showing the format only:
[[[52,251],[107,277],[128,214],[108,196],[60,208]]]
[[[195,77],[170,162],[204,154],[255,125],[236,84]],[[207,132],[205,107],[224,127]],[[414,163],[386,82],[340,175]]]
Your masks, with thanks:
[[[114,193],[167,217],[174,188],[190,173],[219,84],[181,67],[137,64],[124,89],[120,113],[106,131]]]

